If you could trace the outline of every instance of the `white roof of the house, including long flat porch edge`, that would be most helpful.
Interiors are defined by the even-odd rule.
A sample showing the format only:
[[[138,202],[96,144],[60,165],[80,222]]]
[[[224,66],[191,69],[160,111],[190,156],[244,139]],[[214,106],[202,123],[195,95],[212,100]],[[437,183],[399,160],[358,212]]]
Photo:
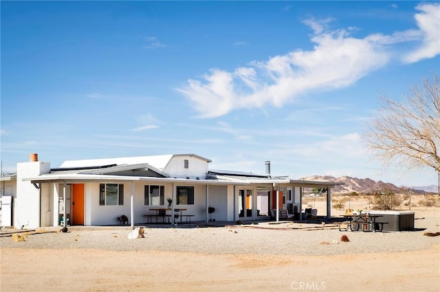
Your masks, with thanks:
[[[163,173],[164,168],[173,157],[190,156],[206,162],[207,158],[195,154],[169,154],[159,156],[137,156],[124,158],[106,158],[92,160],[68,160],[61,168],[51,169],[50,173],[39,175],[36,178],[26,178],[32,182],[56,181],[167,181],[192,182],[197,184],[289,184],[292,186],[335,186],[341,182],[318,182],[305,180],[291,180],[288,176],[272,177],[244,171],[208,170],[206,178],[170,178]]]

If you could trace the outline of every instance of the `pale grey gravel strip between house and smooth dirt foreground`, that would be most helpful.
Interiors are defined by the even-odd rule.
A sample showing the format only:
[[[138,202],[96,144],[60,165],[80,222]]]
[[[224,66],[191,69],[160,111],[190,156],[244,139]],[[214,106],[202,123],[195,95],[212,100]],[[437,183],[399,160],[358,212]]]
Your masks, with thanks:
[[[0,237],[1,248],[99,249],[115,251],[168,251],[203,254],[336,255],[375,252],[406,252],[428,249],[440,243],[440,236],[423,236],[439,231],[439,218],[418,219],[419,231],[340,232],[338,229],[290,229],[298,223],[271,226],[208,228],[145,228],[145,239],[127,239],[129,230],[72,230],[67,233],[30,234],[16,242]],[[300,226],[301,227],[301,226]],[[317,226],[319,227],[319,226]],[[423,228],[422,228],[423,227]],[[422,230],[430,227],[430,230]],[[346,234],[350,242],[340,241]]]

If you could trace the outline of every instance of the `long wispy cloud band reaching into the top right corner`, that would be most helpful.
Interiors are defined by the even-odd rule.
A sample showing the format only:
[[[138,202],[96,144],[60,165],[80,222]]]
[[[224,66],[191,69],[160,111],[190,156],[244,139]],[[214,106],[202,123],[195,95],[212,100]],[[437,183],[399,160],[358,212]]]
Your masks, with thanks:
[[[422,11],[415,16],[419,29],[391,36],[371,34],[355,38],[351,36],[351,32],[357,30],[353,27],[329,31],[331,19],[308,19],[304,23],[314,31],[313,50],[296,49],[267,61],[251,62],[234,71],[210,69],[177,90],[189,99],[199,117],[212,118],[240,108],[280,107],[311,90],[350,86],[388,64],[391,51],[393,55],[402,56],[397,48],[391,47],[399,42],[425,36],[421,47],[408,54],[408,62],[439,53],[439,5],[419,5],[417,10]]]

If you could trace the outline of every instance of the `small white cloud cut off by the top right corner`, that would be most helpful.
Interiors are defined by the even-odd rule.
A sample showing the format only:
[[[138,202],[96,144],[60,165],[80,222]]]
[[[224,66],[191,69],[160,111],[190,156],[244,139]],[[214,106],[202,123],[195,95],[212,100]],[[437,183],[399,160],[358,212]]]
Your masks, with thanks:
[[[432,58],[440,53],[440,4],[422,4],[416,7],[421,13],[414,18],[423,35],[421,45],[404,56],[404,62],[413,63]]]

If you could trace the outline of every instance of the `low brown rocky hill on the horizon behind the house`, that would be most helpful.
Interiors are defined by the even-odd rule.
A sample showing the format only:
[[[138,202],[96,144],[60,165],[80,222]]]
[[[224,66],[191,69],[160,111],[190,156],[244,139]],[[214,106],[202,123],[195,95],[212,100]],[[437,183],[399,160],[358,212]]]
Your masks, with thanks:
[[[375,182],[370,178],[351,178],[350,176],[344,175],[340,178],[335,178],[331,175],[312,175],[305,178],[300,178],[300,180],[319,180],[325,182],[344,182],[342,186],[335,186],[331,188],[332,193],[376,193],[392,191],[393,193],[408,193],[412,189],[413,194],[423,194],[426,192],[436,193],[432,188],[428,190],[422,187],[408,187],[408,186],[395,186],[391,182],[382,182],[381,180]]]

